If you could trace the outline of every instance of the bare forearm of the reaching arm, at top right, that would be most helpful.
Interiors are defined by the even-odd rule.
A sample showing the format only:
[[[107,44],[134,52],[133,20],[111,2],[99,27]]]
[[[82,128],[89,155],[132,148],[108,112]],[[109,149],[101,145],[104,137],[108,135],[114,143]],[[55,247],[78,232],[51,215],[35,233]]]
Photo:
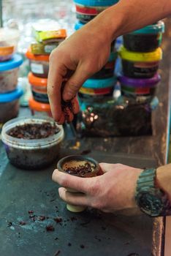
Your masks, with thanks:
[[[171,14],[171,1],[168,0],[121,0],[118,4],[99,14],[93,23],[112,41],[129,31],[155,23]]]

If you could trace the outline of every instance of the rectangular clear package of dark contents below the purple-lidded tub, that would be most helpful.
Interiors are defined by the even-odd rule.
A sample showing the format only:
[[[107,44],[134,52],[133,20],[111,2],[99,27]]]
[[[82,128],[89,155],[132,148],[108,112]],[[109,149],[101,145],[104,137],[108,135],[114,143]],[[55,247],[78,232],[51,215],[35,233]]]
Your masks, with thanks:
[[[80,99],[77,133],[102,138],[151,135],[151,102],[123,96]]]

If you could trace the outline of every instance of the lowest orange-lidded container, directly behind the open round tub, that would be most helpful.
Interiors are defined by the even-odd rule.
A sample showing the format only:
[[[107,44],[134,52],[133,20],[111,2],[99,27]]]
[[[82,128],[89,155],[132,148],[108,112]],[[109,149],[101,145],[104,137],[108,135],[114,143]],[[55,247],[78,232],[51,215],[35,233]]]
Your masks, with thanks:
[[[50,104],[37,102],[32,97],[28,101],[32,116],[52,116]]]

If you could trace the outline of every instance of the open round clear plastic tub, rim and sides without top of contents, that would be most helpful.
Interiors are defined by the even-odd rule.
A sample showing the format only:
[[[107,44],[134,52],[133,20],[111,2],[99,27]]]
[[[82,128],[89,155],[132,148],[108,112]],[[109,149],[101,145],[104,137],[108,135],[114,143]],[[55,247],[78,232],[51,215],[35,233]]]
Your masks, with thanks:
[[[36,140],[25,140],[9,136],[9,130],[23,124],[42,124],[50,122],[54,124],[53,118],[15,118],[8,121],[2,127],[1,140],[4,143],[9,162],[23,169],[40,169],[50,165],[59,154],[60,143],[64,138],[64,129],[61,126],[59,132],[47,138]]]

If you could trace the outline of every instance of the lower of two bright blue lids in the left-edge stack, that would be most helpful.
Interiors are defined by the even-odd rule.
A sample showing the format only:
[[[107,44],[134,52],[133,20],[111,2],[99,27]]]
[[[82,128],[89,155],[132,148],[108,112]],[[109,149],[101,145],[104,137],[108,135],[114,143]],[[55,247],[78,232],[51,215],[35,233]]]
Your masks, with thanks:
[[[18,86],[18,89],[16,89],[15,91],[0,94],[0,103],[12,102],[15,99],[19,99],[22,95],[23,90],[20,89],[20,87]]]

